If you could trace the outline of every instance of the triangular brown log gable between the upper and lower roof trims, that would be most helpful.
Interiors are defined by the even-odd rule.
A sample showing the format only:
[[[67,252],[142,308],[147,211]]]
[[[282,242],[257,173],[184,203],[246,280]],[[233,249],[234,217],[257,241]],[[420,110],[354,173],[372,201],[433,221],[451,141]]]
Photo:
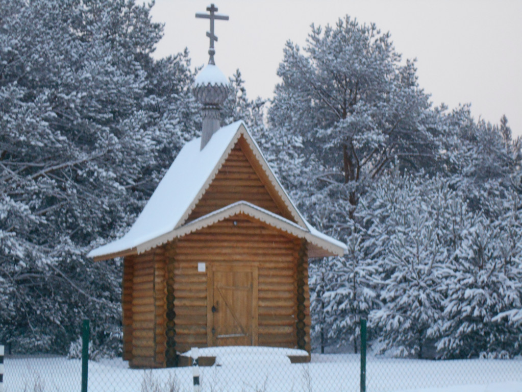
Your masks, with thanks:
[[[296,222],[243,136],[230,151],[186,222],[240,200]]]

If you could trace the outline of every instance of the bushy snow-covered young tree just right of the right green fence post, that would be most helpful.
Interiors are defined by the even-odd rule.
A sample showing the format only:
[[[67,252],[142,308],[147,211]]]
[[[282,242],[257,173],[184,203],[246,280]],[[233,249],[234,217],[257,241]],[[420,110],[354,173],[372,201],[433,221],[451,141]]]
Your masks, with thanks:
[[[466,214],[447,180],[422,173],[386,176],[361,200],[365,253],[378,268],[376,290],[383,302],[370,315],[381,331],[382,352],[425,358],[440,334],[440,276],[451,257],[448,206]]]

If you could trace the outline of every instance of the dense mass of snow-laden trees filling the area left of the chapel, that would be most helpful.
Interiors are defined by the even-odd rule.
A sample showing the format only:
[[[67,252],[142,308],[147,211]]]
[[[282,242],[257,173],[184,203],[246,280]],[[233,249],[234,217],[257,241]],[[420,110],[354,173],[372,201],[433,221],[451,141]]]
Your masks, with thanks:
[[[154,61],[133,1],[5,0],[0,20],[0,341],[66,352],[83,317],[117,339],[121,271],[85,254],[199,128],[187,54]]]

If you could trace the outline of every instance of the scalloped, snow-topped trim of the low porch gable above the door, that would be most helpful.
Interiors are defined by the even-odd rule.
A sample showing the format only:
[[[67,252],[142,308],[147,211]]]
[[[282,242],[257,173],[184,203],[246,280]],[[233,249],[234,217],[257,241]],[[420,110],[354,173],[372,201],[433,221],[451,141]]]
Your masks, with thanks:
[[[197,230],[201,230],[212,224],[215,224],[219,221],[222,221],[224,219],[238,214],[250,216],[254,219],[257,219],[270,225],[271,227],[287,232],[293,236],[305,239],[306,241],[309,241],[310,243],[322,248],[323,250],[328,252],[329,255],[342,256],[345,252],[345,249],[343,249],[342,247],[313,235],[307,229],[301,227],[300,225],[243,200],[233,203],[227,207],[223,207],[219,210],[213,211],[203,217],[200,217],[198,219],[193,220],[192,222],[187,223],[182,227],[176,228],[169,233],[165,233],[156,237],[155,239],[138,245],[136,247],[136,250],[138,254],[147,252],[153,247],[172,241],[174,238],[179,238],[184,235],[193,233]]]

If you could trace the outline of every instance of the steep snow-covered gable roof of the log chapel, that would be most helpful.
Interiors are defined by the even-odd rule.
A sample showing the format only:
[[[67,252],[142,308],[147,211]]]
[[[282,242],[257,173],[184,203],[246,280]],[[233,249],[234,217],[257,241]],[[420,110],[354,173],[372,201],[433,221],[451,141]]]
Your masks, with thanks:
[[[121,239],[100,246],[89,252],[87,256],[98,260],[107,259],[144,252],[146,250],[144,244],[156,243],[152,246],[157,246],[162,243],[157,243],[157,240],[172,233],[185,223],[241,136],[252,149],[269,181],[284,205],[287,206],[296,222],[292,222],[292,224],[296,224],[309,233],[314,233],[314,236],[323,236],[323,240],[336,244],[336,247],[343,245],[343,249],[346,250],[345,244],[319,233],[301,216],[277,177],[272,173],[244,123],[239,121],[218,129],[203,150],[200,150],[200,138],[185,144],[131,229]],[[264,211],[270,214],[269,211]],[[279,218],[286,220],[282,217]]]

